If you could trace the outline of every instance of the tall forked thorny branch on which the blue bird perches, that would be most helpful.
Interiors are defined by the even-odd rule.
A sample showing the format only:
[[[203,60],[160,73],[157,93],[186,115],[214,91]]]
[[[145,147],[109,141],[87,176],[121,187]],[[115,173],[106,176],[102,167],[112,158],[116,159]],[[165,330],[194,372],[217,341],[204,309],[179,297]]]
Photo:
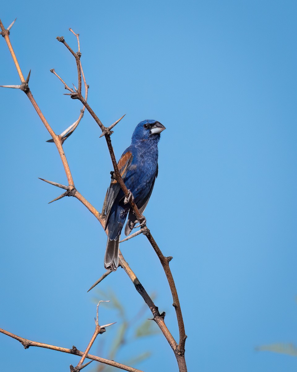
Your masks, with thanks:
[[[40,111],[39,107],[37,106],[37,103],[35,102],[32,94],[30,92],[30,89],[29,89],[29,86],[28,86],[30,73],[29,73],[28,78],[25,80],[24,77],[23,77],[22,71],[21,71],[21,69],[19,67],[19,64],[17,62],[17,59],[16,59],[16,56],[14,54],[13,48],[11,46],[11,43],[10,43],[9,30],[6,30],[4,28],[1,20],[0,20],[0,27],[1,27],[1,31],[2,31],[1,34],[4,37],[4,39],[6,40],[6,42],[7,42],[7,46],[9,47],[9,50],[10,50],[10,52],[12,54],[14,63],[15,63],[16,68],[17,68],[17,71],[19,73],[20,80],[22,81],[22,84],[20,85],[20,89],[23,90],[26,93],[27,97],[29,98],[29,100],[31,101],[32,105],[36,109],[36,112],[39,115],[40,119],[42,120],[43,124],[45,125],[46,129],[48,129],[50,135],[52,136],[53,142],[55,142],[55,144],[56,144],[56,147],[57,147],[57,149],[59,151],[59,154],[60,154],[60,157],[61,157],[61,160],[62,160],[64,169],[65,169],[65,173],[66,173],[66,176],[67,176],[67,180],[68,180],[69,186],[63,186],[63,185],[56,184],[54,182],[46,181],[46,182],[49,182],[49,183],[51,183],[51,184],[53,184],[55,186],[58,186],[58,187],[62,187],[63,186],[62,188],[66,189],[66,192],[65,193],[63,193],[61,196],[59,196],[58,198],[56,198],[54,200],[58,200],[58,199],[60,199],[60,198],[62,198],[64,196],[74,196],[75,198],[79,199],[89,209],[89,211],[92,212],[92,214],[94,214],[94,216],[98,219],[98,221],[104,227],[104,225],[105,225],[105,216],[103,214],[100,214],[75,189],[74,182],[73,182],[72,175],[71,175],[71,171],[69,169],[68,162],[66,160],[66,156],[65,156],[65,154],[63,152],[63,149],[62,149],[62,144],[63,144],[63,141],[65,140],[65,137],[63,137],[64,134],[68,131],[69,128],[71,128],[70,131],[72,133],[74,131],[74,129],[76,128],[76,126],[77,126],[78,123],[76,124],[76,122],[75,122],[71,127],[69,127],[61,135],[56,135],[55,134],[55,132],[52,130],[52,128],[50,127],[50,125],[46,121],[45,117],[43,116],[42,112]],[[76,35],[76,38],[78,40],[78,48],[79,48],[78,34],[76,34],[72,29],[70,29],[70,31],[72,33],[74,33],[74,35]],[[97,124],[101,128],[102,135],[100,137],[102,137],[103,135],[105,136],[105,140],[107,142],[108,150],[110,152],[112,164],[113,164],[113,167],[114,167],[114,178],[120,184],[120,186],[121,186],[121,188],[122,188],[125,196],[128,198],[128,196],[130,195],[130,193],[129,193],[127,187],[125,186],[125,184],[123,182],[123,179],[120,176],[120,173],[119,173],[119,170],[118,170],[118,167],[117,167],[117,161],[115,159],[115,155],[114,155],[114,151],[113,151],[112,144],[111,144],[111,139],[110,139],[110,135],[113,133],[113,131],[111,129],[116,124],[118,124],[118,122],[124,116],[122,116],[120,119],[118,119],[116,122],[114,122],[109,127],[105,127],[102,124],[102,122],[100,121],[100,119],[98,118],[98,116],[95,114],[95,112],[92,110],[92,108],[87,103],[87,87],[88,86],[85,83],[84,74],[82,73],[82,69],[81,69],[81,61],[80,61],[81,52],[80,52],[80,49],[79,49],[79,51],[77,53],[75,53],[69,47],[69,45],[65,42],[65,39],[63,38],[63,36],[62,37],[59,37],[58,36],[57,39],[58,39],[58,41],[62,42],[66,46],[66,48],[68,48],[68,50],[71,52],[71,54],[75,57],[76,65],[77,65],[77,69],[78,69],[78,90],[76,90],[75,87],[74,87],[75,88],[75,91],[72,88],[69,88],[67,86],[67,84],[62,80],[62,78],[59,77],[58,74],[55,73],[54,70],[51,70],[51,72],[55,73],[55,75],[58,76],[58,78],[64,84],[65,89],[68,89],[71,92],[71,93],[69,93],[69,95],[71,96],[72,99],[79,99],[82,102],[82,104],[84,105],[84,109],[87,108],[88,112],[91,114],[91,116],[94,118],[94,120],[97,122]],[[86,88],[86,96],[85,96],[85,98],[81,94],[81,75],[83,76],[84,83],[85,83],[85,88]],[[15,88],[16,86],[10,86],[10,87],[14,87]],[[70,134],[68,132],[68,135],[70,135]],[[67,137],[68,136],[66,135],[66,138]],[[150,241],[150,243],[151,243],[151,246],[154,248],[155,252],[157,253],[157,256],[160,259],[160,262],[161,262],[161,264],[163,266],[163,269],[164,269],[164,272],[166,274],[167,280],[169,282],[169,286],[170,286],[170,289],[171,289],[171,292],[172,292],[172,296],[173,296],[173,306],[174,306],[174,308],[176,310],[177,321],[178,321],[178,325],[179,325],[179,336],[180,337],[179,337],[179,343],[178,344],[176,343],[176,341],[174,340],[173,336],[170,334],[168,328],[166,327],[166,325],[164,323],[165,313],[164,312],[162,314],[159,313],[158,308],[156,307],[156,305],[154,305],[153,301],[148,296],[147,292],[145,291],[145,289],[143,288],[143,286],[141,285],[141,283],[137,279],[136,275],[133,273],[133,271],[131,270],[131,268],[128,266],[127,262],[125,262],[124,257],[121,254],[121,252],[119,254],[120,265],[121,265],[121,267],[123,267],[123,269],[125,270],[125,272],[128,274],[128,276],[132,280],[132,282],[133,282],[135,288],[137,289],[138,293],[140,293],[140,295],[143,297],[144,301],[150,307],[150,310],[151,310],[151,312],[154,315],[153,320],[156,321],[156,323],[159,325],[161,331],[163,332],[164,336],[166,337],[167,341],[169,342],[170,346],[172,347],[172,349],[174,351],[174,354],[175,354],[176,359],[177,359],[177,363],[179,365],[179,370],[185,372],[185,371],[187,371],[187,369],[186,369],[186,363],[185,363],[185,356],[184,356],[186,334],[185,334],[185,327],[184,327],[184,324],[183,324],[182,312],[181,312],[181,309],[180,309],[179,298],[178,298],[178,295],[177,295],[176,287],[174,285],[173,276],[172,276],[172,273],[171,273],[170,268],[169,268],[169,262],[172,259],[172,257],[165,257],[161,253],[161,250],[160,250],[159,246],[157,245],[156,241],[154,240],[153,236],[151,235],[150,230],[148,230],[148,228],[146,227],[146,220],[145,220],[144,216],[140,214],[140,212],[139,212],[136,204],[134,203],[133,200],[131,200],[131,198],[129,199],[129,202],[131,204],[131,208],[133,208],[133,210],[134,210],[134,212],[135,212],[135,214],[137,216],[138,221],[140,223],[142,222],[142,224],[141,224],[141,230],[140,231],[144,235],[146,235],[146,237],[148,238],[148,241]],[[106,275],[104,275],[104,277],[107,276],[109,273],[108,274],[105,273],[105,274]]]

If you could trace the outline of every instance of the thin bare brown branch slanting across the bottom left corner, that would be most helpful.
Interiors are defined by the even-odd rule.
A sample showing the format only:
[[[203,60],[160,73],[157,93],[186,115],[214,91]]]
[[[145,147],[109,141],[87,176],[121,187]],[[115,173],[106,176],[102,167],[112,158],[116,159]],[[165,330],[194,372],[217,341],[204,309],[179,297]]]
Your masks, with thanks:
[[[43,347],[45,349],[50,349],[50,350],[56,350],[62,353],[68,353],[68,354],[73,354],[73,355],[78,355],[78,356],[83,356],[84,352],[76,349],[75,346],[72,347],[72,349],[66,349],[65,347],[60,347],[60,346],[55,346],[55,345],[49,345],[49,344],[44,344],[41,342],[36,342],[36,341],[31,341],[24,339],[23,337],[17,336],[16,334],[13,334],[9,331],[6,331],[2,328],[0,328],[0,333],[6,334],[6,336],[12,337],[13,339],[20,341],[20,343],[24,346],[25,349],[28,349],[30,346],[36,346],[36,347]],[[126,366],[121,363],[114,362],[114,360],[109,360],[109,359],[104,359],[99,356],[87,354],[86,356],[87,359],[92,359],[96,360],[97,362],[107,364],[109,366],[117,367],[120,369],[123,369],[124,371],[129,371],[129,372],[143,372],[140,371],[139,369],[132,368],[129,366]]]

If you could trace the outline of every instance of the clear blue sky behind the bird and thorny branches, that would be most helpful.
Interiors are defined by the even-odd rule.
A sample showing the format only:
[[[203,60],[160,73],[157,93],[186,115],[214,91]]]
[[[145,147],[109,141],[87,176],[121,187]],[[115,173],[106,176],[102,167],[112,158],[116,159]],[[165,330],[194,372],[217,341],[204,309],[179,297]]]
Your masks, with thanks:
[[[141,120],[166,126],[145,215],[163,253],[174,257],[189,371],[296,371],[292,356],[255,351],[297,344],[296,10],[295,1],[264,0],[1,4],[4,26],[17,17],[12,45],[56,133],[81,109],[49,72],[76,85],[74,58],[55,39],[63,35],[76,50],[69,27],[80,34],[89,104],[106,125],[126,113],[112,135],[116,156]],[[0,56],[0,84],[19,83],[4,39]],[[59,190],[37,177],[66,182],[56,148],[25,94],[3,88],[0,97],[0,327],[82,350],[94,331],[99,295],[87,289],[104,272],[106,235],[76,199],[47,204]],[[76,188],[97,209],[112,169],[99,135],[86,112],[64,145]],[[121,249],[177,337],[166,278],[146,238]],[[100,289],[112,290],[128,313],[143,306],[123,270]],[[121,319],[100,310],[102,323],[118,320],[101,335],[108,349]],[[0,350],[5,371],[65,371],[78,362],[24,350],[1,334]],[[177,371],[161,335],[128,344],[115,360],[147,350],[151,358],[137,368]]]

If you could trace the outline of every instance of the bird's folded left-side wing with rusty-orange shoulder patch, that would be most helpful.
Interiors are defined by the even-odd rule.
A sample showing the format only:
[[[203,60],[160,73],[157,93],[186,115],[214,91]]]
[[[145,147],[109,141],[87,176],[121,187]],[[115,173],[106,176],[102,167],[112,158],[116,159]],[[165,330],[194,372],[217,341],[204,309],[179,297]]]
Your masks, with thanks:
[[[133,160],[133,155],[132,155],[131,151],[127,151],[121,156],[121,158],[118,162],[118,170],[119,170],[120,175],[121,175],[123,180],[124,180],[124,178],[127,174],[127,171],[128,171],[128,169],[129,169],[129,167],[132,163],[132,160]],[[109,214],[110,214],[112,205],[114,204],[114,201],[117,198],[120,189],[121,189],[120,184],[117,183],[116,180],[112,180],[111,184],[110,184],[110,187],[108,189],[107,203],[106,203],[106,209],[105,209],[105,215],[106,215],[106,217],[105,217],[105,230],[107,228]]]

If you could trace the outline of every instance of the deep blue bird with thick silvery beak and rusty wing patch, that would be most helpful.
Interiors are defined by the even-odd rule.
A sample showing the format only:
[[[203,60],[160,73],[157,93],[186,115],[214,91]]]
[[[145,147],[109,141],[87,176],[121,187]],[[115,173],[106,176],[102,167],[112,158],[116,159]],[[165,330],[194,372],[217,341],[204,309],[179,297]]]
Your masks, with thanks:
[[[141,214],[147,206],[158,175],[158,142],[164,129],[164,125],[152,119],[138,123],[131,138],[131,145],[126,148],[118,162],[121,177]],[[108,188],[105,205],[105,231],[108,230],[108,238],[104,266],[115,271],[118,267],[118,247],[126,217],[128,215],[126,236],[138,221],[115,179],[112,179]]]

